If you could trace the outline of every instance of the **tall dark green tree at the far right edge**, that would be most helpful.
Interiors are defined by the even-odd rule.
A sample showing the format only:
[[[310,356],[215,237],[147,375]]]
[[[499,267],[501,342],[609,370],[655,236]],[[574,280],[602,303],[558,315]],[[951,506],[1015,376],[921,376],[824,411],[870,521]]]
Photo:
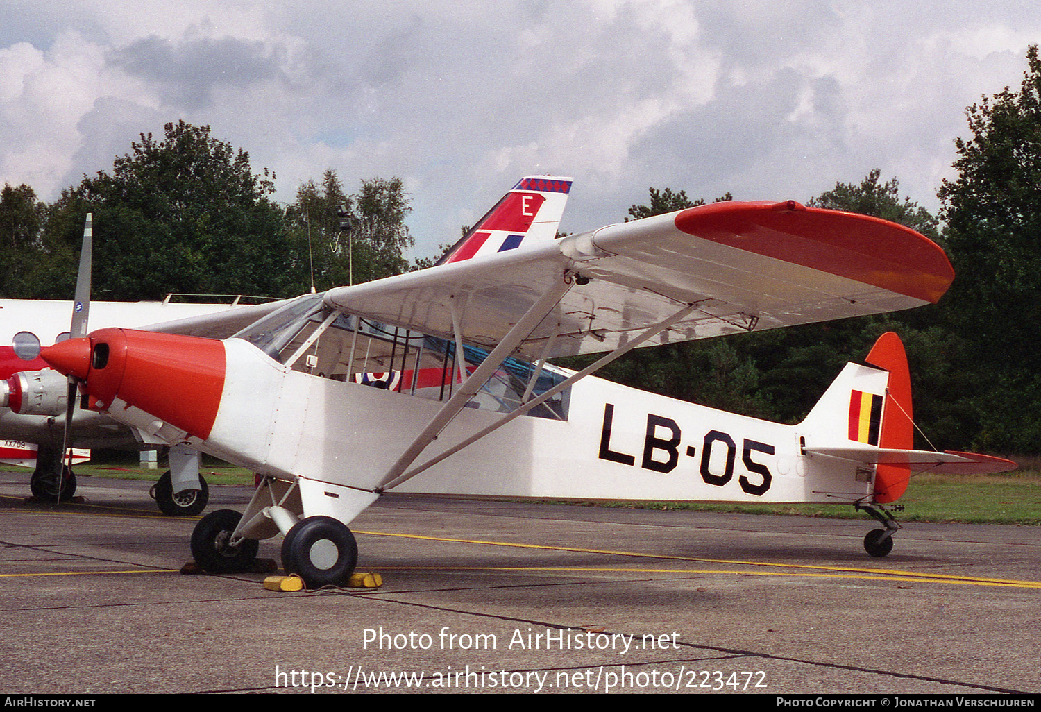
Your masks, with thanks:
[[[969,344],[977,447],[1041,451],[1041,58],[1026,52],[1018,91],[967,109],[956,180],[940,188],[958,275],[949,320]]]

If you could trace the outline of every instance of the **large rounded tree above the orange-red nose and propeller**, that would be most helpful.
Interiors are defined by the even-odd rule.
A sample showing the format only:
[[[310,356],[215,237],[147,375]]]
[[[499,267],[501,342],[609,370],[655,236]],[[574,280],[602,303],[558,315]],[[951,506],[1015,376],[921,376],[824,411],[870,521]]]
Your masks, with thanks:
[[[290,250],[282,208],[270,199],[274,176],[254,175],[248,153],[183,121],[131,148],[110,174],[84,176],[66,197],[95,212],[99,298],[299,291],[307,256]]]

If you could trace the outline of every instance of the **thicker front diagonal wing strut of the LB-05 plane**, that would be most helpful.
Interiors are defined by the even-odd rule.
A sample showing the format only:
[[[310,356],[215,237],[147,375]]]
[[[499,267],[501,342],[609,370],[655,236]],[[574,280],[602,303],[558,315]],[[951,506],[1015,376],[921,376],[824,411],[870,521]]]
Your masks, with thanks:
[[[473,374],[459,386],[459,389],[450,398],[437,414],[431,418],[427,427],[423,429],[412,443],[402,453],[401,457],[390,466],[387,474],[383,476],[383,479],[375,487],[374,491],[382,491],[387,482],[393,481],[399,475],[405,472],[405,468],[420,456],[420,454],[430,444],[437,435],[448,426],[448,424],[456,416],[456,414],[462,410],[466,403],[472,399],[484,382],[491,378],[491,375],[499,368],[503,361],[512,354],[520,342],[535,330],[535,328],[545,319],[560,299],[572,288],[575,283],[574,279],[566,279],[561,276],[560,279],[554,280],[553,283],[547,287],[542,296],[539,297],[538,301],[528,308],[524,316],[513,326],[512,329],[503,337],[503,340],[499,342],[488,357],[479,365]],[[458,314],[455,309],[455,299],[452,300],[452,316],[453,322],[457,323]],[[457,338],[459,332],[456,332]],[[458,341],[457,341],[458,344]],[[462,352],[457,351],[457,360],[462,361]],[[465,368],[460,370],[461,373],[465,373]]]

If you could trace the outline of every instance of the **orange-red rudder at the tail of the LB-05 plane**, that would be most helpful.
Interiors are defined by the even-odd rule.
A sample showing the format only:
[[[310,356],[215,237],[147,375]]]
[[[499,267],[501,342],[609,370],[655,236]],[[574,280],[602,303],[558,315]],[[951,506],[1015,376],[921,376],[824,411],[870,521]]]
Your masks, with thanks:
[[[888,331],[879,337],[867,355],[867,362],[889,372],[889,386],[882,412],[880,448],[914,449],[914,414],[911,410],[911,371],[900,337]],[[879,464],[874,477],[874,500],[895,502],[907,489],[911,467]]]

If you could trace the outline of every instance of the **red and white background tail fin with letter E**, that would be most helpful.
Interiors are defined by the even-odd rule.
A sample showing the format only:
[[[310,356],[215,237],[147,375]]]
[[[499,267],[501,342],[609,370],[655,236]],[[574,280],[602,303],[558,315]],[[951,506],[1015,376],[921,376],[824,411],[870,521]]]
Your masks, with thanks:
[[[522,178],[437,263],[514,250],[526,240],[553,239],[570,189],[570,178]]]

